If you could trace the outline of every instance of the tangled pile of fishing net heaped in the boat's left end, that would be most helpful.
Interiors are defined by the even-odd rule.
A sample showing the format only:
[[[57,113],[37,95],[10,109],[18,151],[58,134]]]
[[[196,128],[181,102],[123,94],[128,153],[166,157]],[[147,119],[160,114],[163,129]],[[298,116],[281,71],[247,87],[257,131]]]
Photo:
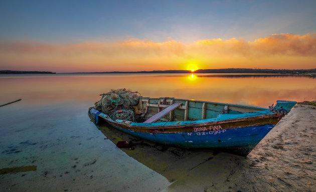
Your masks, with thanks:
[[[95,103],[93,108],[109,115],[113,120],[137,121],[144,118],[141,95],[138,92],[116,89],[100,96],[102,98]]]

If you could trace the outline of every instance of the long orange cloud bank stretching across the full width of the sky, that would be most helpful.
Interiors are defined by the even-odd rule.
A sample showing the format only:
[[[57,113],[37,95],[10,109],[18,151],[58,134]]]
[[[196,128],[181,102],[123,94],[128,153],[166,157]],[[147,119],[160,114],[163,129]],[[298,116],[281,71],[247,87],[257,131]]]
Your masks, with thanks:
[[[204,51],[203,51],[204,50]],[[82,44],[58,45],[42,42],[3,42],[0,43],[1,52],[13,53],[60,53],[60,54],[144,54],[185,56],[190,53],[207,52],[208,54],[262,54],[262,55],[292,55],[316,56],[316,34],[292,35],[273,34],[253,42],[242,39],[210,39],[200,40],[194,44],[185,45],[177,41],[154,43],[131,39],[126,41],[99,43],[87,42]]]

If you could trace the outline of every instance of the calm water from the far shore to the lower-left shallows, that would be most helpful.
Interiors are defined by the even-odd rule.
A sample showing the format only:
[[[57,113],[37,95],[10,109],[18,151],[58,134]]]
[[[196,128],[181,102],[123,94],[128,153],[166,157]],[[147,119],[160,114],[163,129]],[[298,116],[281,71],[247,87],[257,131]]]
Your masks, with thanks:
[[[88,107],[110,89],[267,107],[276,100],[316,100],[316,79],[212,74],[2,75],[0,168],[37,165],[0,175],[6,189],[160,191],[170,181],[126,155],[90,122]],[[150,184],[148,184],[150,183]]]

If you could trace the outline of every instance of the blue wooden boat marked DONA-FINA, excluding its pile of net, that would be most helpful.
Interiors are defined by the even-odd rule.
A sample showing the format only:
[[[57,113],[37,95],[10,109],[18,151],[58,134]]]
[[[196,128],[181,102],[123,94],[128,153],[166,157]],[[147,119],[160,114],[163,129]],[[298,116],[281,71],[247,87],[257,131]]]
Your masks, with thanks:
[[[153,142],[186,148],[219,148],[247,155],[296,104],[276,101],[269,108],[175,98],[141,98],[144,122],[113,120],[89,109],[90,118]]]

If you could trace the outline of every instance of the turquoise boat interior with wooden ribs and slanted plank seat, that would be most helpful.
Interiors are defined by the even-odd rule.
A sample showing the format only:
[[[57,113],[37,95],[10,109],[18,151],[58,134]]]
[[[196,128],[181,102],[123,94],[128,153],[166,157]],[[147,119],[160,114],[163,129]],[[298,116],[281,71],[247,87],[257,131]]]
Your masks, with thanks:
[[[268,108],[238,104],[216,103],[175,98],[142,97],[142,106],[146,111],[146,121],[195,121],[216,118],[221,114],[242,114],[257,112]]]

